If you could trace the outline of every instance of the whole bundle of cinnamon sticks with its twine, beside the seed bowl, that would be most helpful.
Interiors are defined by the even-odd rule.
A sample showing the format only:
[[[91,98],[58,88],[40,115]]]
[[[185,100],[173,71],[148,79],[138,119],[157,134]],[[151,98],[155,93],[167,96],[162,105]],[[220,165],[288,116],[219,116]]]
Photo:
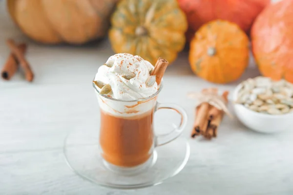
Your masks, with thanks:
[[[227,108],[228,95],[228,91],[224,91],[222,95],[219,95],[217,88],[206,88],[201,92],[188,94],[189,98],[197,100],[192,138],[199,134],[202,134],[207,139],[217,136],[217,129],[224,113],[232,117]]]

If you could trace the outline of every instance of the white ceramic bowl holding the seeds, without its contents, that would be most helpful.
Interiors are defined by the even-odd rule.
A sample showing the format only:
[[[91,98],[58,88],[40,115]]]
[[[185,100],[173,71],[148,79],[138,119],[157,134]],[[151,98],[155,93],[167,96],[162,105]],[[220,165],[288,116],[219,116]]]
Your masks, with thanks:
[[[239,84],[233,94],[232,101],[236,101],[237,93],[241,88]],[[243,105],[233,103],[238,119],[249,129],[262,133],[275,133],[284,130],[293,130],[293,112],[280,115],[259,113]]]

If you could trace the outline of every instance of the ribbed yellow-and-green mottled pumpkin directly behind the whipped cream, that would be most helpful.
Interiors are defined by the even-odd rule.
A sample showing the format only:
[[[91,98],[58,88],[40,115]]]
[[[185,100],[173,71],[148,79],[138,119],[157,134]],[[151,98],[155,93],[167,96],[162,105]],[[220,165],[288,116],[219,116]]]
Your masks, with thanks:
[[[116,53],[139,55],[151,64],[173,62],[185,45],[187,20],[176,0],[121,0],[109,39]]]

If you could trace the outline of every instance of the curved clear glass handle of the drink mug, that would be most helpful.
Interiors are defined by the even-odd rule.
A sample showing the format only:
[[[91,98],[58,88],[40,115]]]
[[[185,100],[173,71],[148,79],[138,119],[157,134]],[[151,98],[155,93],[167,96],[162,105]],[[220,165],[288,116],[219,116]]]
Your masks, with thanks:
[[[155,111],[159,109],[172,109],[180,114],[181,121],[179,127],[175,127],[171,132],[164,135],[157,135],[155,140],[155,146],[161,146],[169,143],[170,141],[176,139],[184,130],[187,124],[187,114],[183,108],[176,104],[161,104],[157,103]]]

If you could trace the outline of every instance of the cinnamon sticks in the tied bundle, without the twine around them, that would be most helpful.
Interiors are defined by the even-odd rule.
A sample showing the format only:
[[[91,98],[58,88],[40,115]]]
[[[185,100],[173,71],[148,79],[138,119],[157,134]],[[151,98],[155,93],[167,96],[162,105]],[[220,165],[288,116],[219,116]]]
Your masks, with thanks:
[[[203,89],[202,93],[218,97],[218,90],[215,88]],[[221,96],[226,105],[228,104],[228,95],[229,91],[224,91]],[[192,138],[200,134],[206,139],[211,139],[212,137],[217,136],[218,127],[224,116],[224,111],[222,109],[216,108],[208,102],[203,102],[196,108],[195,116],[194,126],[191,133]]]

